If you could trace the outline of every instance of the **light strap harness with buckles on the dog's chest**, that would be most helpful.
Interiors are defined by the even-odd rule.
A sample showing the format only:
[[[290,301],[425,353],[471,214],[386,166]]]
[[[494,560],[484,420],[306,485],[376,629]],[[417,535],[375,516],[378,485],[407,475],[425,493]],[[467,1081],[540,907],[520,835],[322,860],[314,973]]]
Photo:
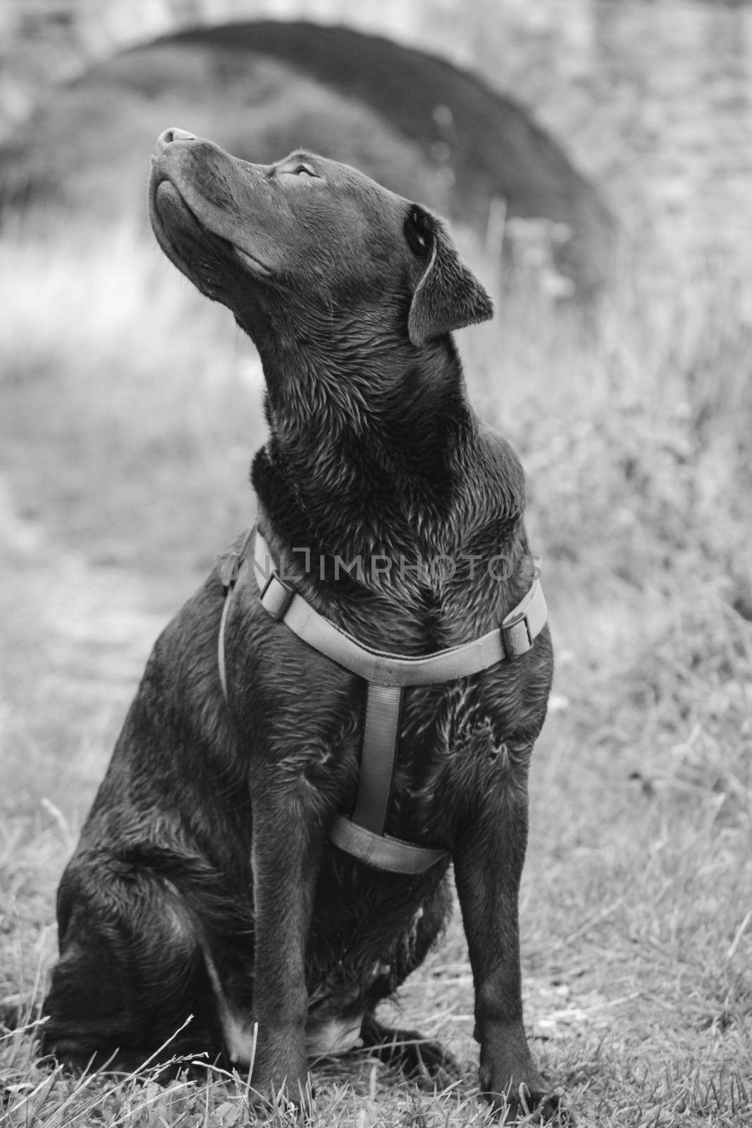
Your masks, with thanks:
[[[391,781],[399,744],[399,713],[405,686],[428,686],[454,681],[487,670],[498,662],[525,654],[546,625],[547,607],[538,579],[502,625],[472,642],[435,651],[425,658],[400,658],[364,646],[340,627],[330,623],[285,584],[260,532],[250,529],[240,548],[218,557],[218,572],[224,587],[224,606],[219,633],[219,673],[228,698],[224,666],[224,627],[228,608],[251,536],[256,531],[254,571],[262,606],[277,623],[284,623],[309,646],[368,684],[365,726],[361,754],[357,796],[352,817],[338,814],[329,839],[377,870],[392,873],[423,873],[449,856],[446,849],[416,846],[386,835]]]

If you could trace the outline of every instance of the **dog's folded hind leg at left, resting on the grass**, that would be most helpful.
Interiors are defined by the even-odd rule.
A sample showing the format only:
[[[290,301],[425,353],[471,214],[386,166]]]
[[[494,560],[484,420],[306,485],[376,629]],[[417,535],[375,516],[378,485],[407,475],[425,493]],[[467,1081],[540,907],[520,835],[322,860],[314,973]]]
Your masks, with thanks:
[[[216,1052],[194,920],[170,882],[112,857],[74,857],[57,897],[60,961],[42,1043],[72,1066]]]

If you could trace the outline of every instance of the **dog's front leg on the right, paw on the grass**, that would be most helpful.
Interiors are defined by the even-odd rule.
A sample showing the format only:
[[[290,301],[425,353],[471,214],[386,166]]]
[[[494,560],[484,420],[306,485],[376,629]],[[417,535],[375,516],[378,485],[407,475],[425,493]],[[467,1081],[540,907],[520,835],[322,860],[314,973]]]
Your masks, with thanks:
[[[475,981],[475,1038],[480,1090],[497,1109],[540,1107],[557,1099],[536,1068],[522,1024],[517,899],[528,843],[528,797],[506,786],[468,819],[454,848],[454,873]],[[522,1100],[521,1100],[522,1098]]]

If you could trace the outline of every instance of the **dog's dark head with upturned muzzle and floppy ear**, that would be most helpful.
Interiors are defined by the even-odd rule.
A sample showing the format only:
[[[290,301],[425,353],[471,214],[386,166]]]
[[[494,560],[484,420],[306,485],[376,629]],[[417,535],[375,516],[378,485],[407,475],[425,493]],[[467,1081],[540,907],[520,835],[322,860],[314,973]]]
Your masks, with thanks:
[[[371,347],[422,347],[493,312],[437,217],[313,153],[251,165],[167,130],[149,201],[167,256],[259,347],[292,321],[311,343],[357,321]]]

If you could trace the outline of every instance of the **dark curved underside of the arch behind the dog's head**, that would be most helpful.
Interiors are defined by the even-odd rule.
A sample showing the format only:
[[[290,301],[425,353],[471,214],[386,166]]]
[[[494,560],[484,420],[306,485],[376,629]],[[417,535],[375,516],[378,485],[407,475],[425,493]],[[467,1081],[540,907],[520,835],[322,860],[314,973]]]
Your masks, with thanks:
[[[426,152],[449,147],[455,214],[485,230],[492,201],[503,196],[510,215],[568,223],[561,268],[584,296],[608,281],[616,224],[598,192],[520,105],[474,74],[390,39],[303,21],[202,26],[158,42],[272,55],[360,98]],[[451,109],[451,122],[436,121],[437,106]]]

